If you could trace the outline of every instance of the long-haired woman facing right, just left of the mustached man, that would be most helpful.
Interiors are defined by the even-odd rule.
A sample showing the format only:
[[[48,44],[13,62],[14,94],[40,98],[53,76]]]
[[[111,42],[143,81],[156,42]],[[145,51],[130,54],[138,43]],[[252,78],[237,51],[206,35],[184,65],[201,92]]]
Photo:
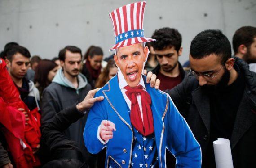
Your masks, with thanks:
[[[49,59],[43,59],[39,62],[35,71],[35,86],[38,88],[40,97],[46,88],[53,80],[58,70],[58,65]]]

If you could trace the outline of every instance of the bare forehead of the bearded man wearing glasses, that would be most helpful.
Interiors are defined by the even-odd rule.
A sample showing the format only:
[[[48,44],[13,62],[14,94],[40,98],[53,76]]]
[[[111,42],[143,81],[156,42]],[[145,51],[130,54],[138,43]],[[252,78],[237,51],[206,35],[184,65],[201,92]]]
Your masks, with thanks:
[[[197,72],[214,71],[221,65],[221,61],[215,54],[208,55],[202,59],[194,59],[189,56],[190,67]]]

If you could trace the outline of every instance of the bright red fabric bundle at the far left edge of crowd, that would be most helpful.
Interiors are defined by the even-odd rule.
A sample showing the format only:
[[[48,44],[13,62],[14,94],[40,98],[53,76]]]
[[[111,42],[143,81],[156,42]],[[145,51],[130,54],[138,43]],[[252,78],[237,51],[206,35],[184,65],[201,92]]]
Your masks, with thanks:
[[[4,126],[2,130],[16,168],[33,168],[40,165],[38,158],[33,155],[40,143],[40,114],[37,108],[30,111],[20,99],[5,62],[3,59],[0,61],[0,123]],[[28,114],[27,125],[25,115],[19,108],[25,109]],[[22,147],[22,144],[25,146]]]

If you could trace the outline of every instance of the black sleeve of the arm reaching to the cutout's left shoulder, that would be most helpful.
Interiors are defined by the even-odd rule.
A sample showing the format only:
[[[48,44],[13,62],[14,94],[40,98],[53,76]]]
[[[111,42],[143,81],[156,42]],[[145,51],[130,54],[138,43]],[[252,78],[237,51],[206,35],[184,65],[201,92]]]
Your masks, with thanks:
[[[82,152],[75,141],[67,138],[62,131],[84,116],[75,105],[63,109],[50,120],[43,129],[42,140],[50,147],[52,161],[44,168],[86,168]]]

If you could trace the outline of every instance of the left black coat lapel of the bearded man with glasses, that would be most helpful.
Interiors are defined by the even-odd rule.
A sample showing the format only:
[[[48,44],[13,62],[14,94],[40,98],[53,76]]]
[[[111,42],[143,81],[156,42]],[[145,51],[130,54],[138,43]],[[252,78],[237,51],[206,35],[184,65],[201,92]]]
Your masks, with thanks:
[[[196,108],[207,128],[208,134],[210,133],[210,100],[206,94],[203,94],[200,88],[191,92]]]

